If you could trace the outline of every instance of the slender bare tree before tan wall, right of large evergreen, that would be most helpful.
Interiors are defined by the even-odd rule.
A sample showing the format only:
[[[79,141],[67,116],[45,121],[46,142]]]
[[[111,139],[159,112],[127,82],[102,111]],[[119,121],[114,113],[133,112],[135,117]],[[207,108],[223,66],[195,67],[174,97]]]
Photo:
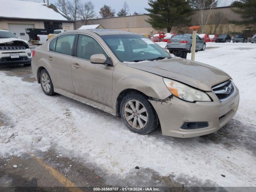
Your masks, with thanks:
[[[199,18],[198,22],[201,26],[201,31],[204,33],[204,28],[208,23],[208,20],[210,18],[210,15],[212,13],[212,8],[216,6],[216,0],[196,0],[198,3],[198,8],[199,8]],[[210,4],[207,6],[207,3]],[[205,13],[205,8],[208,8],[208,13]]]

